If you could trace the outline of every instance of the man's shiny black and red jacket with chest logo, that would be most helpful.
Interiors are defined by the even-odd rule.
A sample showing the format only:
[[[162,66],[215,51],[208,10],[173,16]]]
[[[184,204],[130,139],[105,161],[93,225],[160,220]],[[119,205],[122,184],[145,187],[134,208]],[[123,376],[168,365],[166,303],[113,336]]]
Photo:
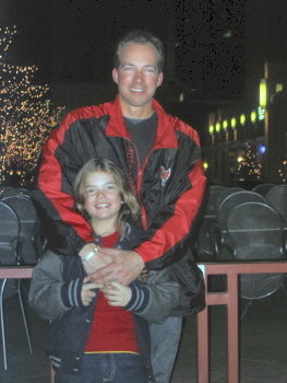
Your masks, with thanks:
[[[72,185],[93,158],[118,163],[129,176],[142,207],[143,243],[135,248],[151,268],[179,260],[190,247],[190,233],[201,206],[205,176],[199,137],[153,100],[157,136],[142,169],[124,126],[118,97],[112,103],[81,107],[67,115],[44,147],[34,199],[48,222],[49,247],[77,255],[88,242],[91,225],[76,211]]]

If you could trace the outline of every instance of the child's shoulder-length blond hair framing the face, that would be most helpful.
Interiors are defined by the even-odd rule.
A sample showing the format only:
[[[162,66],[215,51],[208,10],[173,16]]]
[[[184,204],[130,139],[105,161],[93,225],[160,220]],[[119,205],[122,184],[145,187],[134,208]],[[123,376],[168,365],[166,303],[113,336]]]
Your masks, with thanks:
[[[88,221],[91,220],[91,217],[85,209],[85,181],[87,175],[92,172],[109,173],[116,182],[120,198],[123,202],[121,205],[116,225],[117,230],[122,232],[123,223],[135,223],[140,216],[140,205],[135,195],[131,190],[128,177],[115,162],[107,159],[89,160],[80,170],[73,185],[74,198],[81,214]]]

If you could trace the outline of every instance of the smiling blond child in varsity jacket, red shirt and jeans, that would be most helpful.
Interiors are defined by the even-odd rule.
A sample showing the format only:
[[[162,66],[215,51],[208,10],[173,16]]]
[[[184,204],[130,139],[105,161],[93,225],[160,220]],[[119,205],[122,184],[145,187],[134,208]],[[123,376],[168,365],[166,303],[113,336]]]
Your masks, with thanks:
[[[139,205],[121,169],[92,160],[79,172],[74,196],[91,222],[96,244],[131,249],[141,231],[132,225]],[[142,275],[129,287],[93,283],[83,260],[50,251],[34,269],[29,305],[51,321],[46,351],[56,383],[147,383],[153,381],[147,322],[163,323],[179,303],[168,270]]]

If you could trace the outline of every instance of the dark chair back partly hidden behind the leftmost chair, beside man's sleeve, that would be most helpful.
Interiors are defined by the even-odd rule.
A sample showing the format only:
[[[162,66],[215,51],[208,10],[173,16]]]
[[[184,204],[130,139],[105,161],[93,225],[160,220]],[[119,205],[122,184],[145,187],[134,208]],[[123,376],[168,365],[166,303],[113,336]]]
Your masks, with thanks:
[[[41,255],[38,246],[39,220],[32,200],[25,196],[16,195],[2,199],[16,213],[20,221],[21,254],[26,265],[35,265]]]

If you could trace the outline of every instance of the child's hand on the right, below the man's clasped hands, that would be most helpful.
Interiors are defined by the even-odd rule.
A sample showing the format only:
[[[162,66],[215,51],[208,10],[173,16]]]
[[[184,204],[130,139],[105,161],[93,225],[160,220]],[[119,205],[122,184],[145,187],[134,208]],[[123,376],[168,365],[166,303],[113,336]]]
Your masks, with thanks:
[[[123,286],[115,280],[106,282],[100,291],[103,291],[108,304],[111,306],[123,307],[132,298],[132,290],[128,286]]]

